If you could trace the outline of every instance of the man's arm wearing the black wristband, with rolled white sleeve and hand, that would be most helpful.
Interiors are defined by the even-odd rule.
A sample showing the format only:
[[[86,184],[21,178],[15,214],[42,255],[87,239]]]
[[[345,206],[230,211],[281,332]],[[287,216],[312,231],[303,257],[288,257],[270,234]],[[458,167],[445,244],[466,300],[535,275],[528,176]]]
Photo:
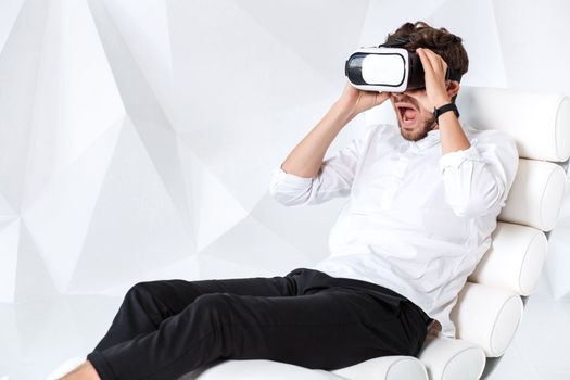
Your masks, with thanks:
[[[459,86],[446,84],[447,64],[429,49],[417,49],[426,73],[426,90],[434,107],[451,102]],[[498,213],[515,180],[518,150],[505,134],[481,134],[477,147],[467,139],[457,116],[446,112],[439,117],[442,156],[440,169],[445,200],[458,216],[477,217]]]

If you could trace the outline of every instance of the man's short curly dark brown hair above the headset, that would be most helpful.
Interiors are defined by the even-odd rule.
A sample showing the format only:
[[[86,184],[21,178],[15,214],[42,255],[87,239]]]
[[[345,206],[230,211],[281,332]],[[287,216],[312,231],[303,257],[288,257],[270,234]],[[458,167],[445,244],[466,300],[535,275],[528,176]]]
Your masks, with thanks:
[[[401,48],[415,52],[417,48],[428,48],[438,53],[447,65],[461,75],[469,68],[469,58],[461,43],[463,39],[446,28],[434,28],[422,21],[415,24],[405,23],[393,34],[389,34],[384,43],[396,42],[398,39],[409,39]],[[455,100],[455,99],[454,99]]]

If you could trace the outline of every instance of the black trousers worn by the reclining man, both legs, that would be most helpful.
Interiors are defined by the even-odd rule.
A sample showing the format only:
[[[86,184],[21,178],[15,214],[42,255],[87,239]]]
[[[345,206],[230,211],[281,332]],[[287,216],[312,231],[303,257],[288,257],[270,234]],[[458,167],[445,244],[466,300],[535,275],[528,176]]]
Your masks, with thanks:
[[[338,369],[417,355],[431,322],[378,284],[297,268],[284,277],[139,282],[87,355],[101,379],[177,379],[216,359]]]

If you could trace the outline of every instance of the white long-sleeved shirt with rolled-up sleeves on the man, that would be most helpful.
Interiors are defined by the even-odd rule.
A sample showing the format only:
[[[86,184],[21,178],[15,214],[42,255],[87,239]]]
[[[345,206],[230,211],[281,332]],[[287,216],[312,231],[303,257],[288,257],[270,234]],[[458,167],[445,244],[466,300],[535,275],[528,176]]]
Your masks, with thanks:
[[[442,155],[440,130],[405,140],[397,126],[371,125],[314,178],[274,170],[269,193],[286,206],[349,197],[313,268],[389,288],[455,338],[449,312],[491,245],[518,169],[515,141],[498,130],[463,129],[471,147]]]

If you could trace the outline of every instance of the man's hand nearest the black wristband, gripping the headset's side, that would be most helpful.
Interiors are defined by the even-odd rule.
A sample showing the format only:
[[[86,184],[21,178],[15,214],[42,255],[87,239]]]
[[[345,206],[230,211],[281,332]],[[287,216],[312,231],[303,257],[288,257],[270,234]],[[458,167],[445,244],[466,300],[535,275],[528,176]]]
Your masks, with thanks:
[[[447,85],[445,83],[447,63],[430,49],[418,48],[416,52],[426,73],[426,94],[432,109],[451,103],[452,99],[447,93]]]

